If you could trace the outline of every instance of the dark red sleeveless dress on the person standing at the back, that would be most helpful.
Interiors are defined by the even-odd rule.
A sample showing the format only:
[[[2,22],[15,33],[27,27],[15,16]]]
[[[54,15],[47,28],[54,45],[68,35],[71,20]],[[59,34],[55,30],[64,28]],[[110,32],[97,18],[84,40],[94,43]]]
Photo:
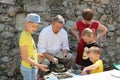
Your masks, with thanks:
[[[76,22],[76,26],[77,26],[77,29],[78,29],[79,33],[81,33],[85,28],[89,28],[90,24],[84,24],[82,22],[82,20],[79,20],[78,22]],[[97,29],[98,29],[98,26],[99,26],[99,22],[98,21],[93,21],[93,23],[90,27],[92,30],[95,31],[94,32],[95,34],[96,34]],[[81,38],[81,34],[79,36]],[[85,45],[85,42],[83,41],[83,39],[81,39],[80,42],[78,43],[77,57],[76,57],[76,63],[79,64],[79,65],[81,65],[81,63],[82,63],[84,45]]]

